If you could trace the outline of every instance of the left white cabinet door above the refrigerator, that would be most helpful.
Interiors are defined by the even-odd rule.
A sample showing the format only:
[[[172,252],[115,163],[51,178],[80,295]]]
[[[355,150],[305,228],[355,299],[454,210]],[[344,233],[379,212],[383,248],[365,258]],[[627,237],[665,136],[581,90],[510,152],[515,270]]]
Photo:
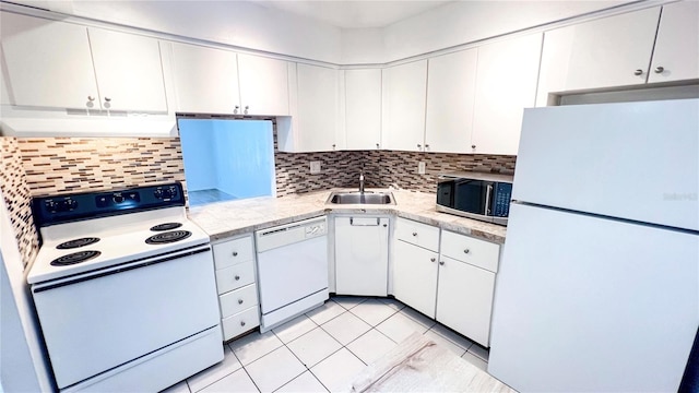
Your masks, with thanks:
[[[546,32],[536,105],[549,93],[645,83],[659,17],[656,7]]]

